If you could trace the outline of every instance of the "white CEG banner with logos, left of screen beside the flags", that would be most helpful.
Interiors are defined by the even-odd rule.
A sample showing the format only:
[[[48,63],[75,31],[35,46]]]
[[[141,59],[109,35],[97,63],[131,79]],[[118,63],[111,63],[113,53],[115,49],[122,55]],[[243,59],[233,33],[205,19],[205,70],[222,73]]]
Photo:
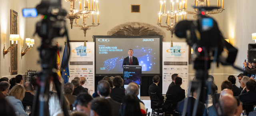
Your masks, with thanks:
[[[75,77],[84,76],[86,82],[82,85],[88,88],[90,94],[94,93],[94,42],[69,42],[69,80],[71,82]]]

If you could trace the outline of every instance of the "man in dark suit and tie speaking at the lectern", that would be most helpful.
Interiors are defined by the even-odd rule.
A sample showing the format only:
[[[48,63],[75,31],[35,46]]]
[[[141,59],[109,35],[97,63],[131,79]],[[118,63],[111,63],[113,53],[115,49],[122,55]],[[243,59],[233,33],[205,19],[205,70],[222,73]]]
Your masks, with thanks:
[[[132,56],[132,54],[133,54],[132,49],[128,50],[128,54],[129,54],[129,56],[124,58],[122,66],[124,66],[124,65],[139,65],[138,59],[136,57]]]

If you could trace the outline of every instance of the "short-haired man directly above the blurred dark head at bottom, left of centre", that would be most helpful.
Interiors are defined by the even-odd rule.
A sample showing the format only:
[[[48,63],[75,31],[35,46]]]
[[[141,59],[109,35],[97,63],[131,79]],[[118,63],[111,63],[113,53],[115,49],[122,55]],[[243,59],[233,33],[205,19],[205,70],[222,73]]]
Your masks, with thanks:
[[[98,86],[97,86],[97,90],[98,90],[98,94],[100,95],[100,97],[105,98],[106,100],[108,100],[110,106],[112,107],[112,116],[119,116],[120,112],[120,106],[121,104],[114,101],[112,98],[110,98],[110,85],[108,83],[108,81],[106,80],[101,80],[98,82]],[[104,106],[104,107],[108,107],[108,106]]]

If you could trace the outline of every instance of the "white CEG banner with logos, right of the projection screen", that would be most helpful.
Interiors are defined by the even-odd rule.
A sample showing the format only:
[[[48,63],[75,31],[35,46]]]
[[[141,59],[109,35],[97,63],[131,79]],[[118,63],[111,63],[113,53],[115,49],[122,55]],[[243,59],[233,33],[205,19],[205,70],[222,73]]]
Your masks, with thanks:
[[[188,52],[186,42],[163,42],[163,94],[166,94],[168,86],[172,82],[172,74],[178,74],[182,78],[181,88],[188,90]]]

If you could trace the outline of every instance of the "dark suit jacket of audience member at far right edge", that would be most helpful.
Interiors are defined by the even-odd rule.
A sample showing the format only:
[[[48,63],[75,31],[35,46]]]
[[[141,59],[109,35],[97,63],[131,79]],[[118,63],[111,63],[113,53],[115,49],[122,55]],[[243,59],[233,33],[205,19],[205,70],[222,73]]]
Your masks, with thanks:
[[[256,96],[256,92],[248,91],[247,93],[238,96],[238,98],[244,104],[252,104],[252,103],[256,103],[255,96]]]

